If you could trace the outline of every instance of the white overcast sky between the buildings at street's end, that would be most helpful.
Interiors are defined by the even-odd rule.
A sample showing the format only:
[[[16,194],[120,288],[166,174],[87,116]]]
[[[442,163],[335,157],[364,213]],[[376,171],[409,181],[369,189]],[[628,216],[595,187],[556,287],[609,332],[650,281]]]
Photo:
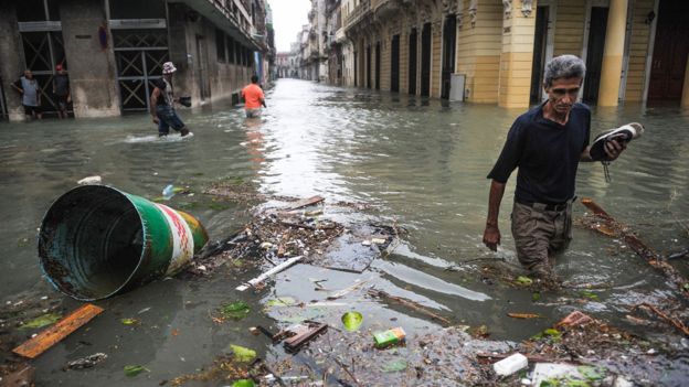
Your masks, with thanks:
[[[297,41],[301,25],[308,24],[310,0],[268,0],[273,11],[275,47],[277,52],[289,51],[289,43]]]

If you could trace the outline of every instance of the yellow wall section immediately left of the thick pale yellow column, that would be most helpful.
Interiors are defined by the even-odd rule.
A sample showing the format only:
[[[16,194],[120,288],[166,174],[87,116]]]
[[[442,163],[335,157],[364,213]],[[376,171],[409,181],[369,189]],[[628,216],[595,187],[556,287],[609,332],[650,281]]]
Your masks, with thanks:
[[[500,53],[502,51],[502,3],[477,1],[476,26],[471,26],[469,1],[464,1],[463,25],[457,35],[456,73],[464,74],[466,100],[498,101]]]

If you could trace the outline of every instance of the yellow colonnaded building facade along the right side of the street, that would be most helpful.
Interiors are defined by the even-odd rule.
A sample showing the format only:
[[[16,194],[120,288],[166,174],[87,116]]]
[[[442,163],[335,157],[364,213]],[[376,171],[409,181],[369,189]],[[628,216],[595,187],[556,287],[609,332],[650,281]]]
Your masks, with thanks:
[[[341,0],[340,13],[347,86],[522,108],[544,97],[545,63],[574,54],[586,103],[689,105],[689,1]]]

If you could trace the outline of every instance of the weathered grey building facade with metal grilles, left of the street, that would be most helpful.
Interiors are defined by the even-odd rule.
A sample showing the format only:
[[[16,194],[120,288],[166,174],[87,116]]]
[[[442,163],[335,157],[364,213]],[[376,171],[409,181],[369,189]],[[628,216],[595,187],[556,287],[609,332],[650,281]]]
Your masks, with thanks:
[[[165,62],[177,95],[194,106],[237,97],[252,74],[267,79],[272,25],[264,0],[6,0],[0,2],[0,111],[24,118],[10,84],[30,68],[42,108],[55,111],[51,82],[70,76],[75,117],[146,111]]]

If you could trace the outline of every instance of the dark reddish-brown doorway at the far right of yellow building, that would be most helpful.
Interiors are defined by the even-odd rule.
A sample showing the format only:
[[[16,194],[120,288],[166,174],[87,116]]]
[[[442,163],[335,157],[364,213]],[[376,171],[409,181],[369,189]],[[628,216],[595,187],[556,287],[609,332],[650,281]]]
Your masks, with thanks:
[[[687,1],[660,1],[648,85],[649,101],[679,101],[689,55]]]

